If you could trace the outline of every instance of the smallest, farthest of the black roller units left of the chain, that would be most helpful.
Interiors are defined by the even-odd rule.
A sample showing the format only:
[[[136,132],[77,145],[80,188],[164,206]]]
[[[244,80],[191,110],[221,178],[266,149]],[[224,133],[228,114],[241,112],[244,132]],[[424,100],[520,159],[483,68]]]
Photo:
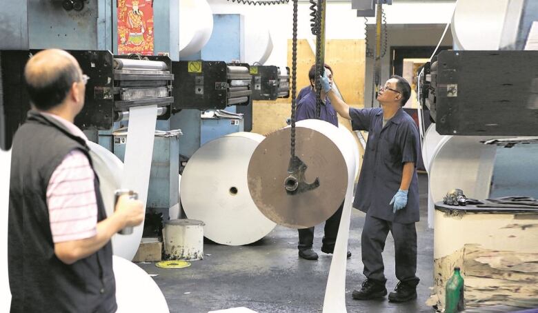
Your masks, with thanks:
[[[286,73],[274,65],[252,65],[252,100],[276,100],[290,97],[290,68]]]

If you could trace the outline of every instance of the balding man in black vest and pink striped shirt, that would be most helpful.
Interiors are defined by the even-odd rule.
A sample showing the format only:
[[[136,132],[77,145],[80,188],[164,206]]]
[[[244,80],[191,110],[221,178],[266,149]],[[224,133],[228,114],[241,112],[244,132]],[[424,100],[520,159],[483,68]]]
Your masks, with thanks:
[[[32,110],[12,145],[11,312],[115,312],[110,238],[143,221],[142,203],[121,197],[106,216],[88,139],[73,124],[89,79],[77,60],[43,50],[24,78]]]

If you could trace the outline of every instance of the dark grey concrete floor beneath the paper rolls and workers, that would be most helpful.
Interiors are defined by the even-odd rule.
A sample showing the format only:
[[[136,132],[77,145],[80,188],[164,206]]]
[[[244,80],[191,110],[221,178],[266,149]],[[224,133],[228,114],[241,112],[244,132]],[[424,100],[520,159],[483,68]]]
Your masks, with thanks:
[[[364,214],[353,210],[346,279],[348,312],[432,312],[425,304],[430,296],[433,276],[433,231],[427,226],[428,182],[419,174],[421,221],[417,223],[418,299],[409,303],[356,301],[351,292],[360,287],[364,277],[361,263],[361,231]],[[172,313],[206,313],[230,307],[248,307],[260,313],[321,312],[331,256],[319,251],[323,227],[316,227],[314,249],[318,261],[297,256],[297,230],[277,226],[266,238],[248,246],[230,247],[215,243],[204,245],[203,261],[190,267],[165,270],[154,263],[139,264],[155,276]],[[389,234],[385,252],[387,289],[396,284],[394,241]]]

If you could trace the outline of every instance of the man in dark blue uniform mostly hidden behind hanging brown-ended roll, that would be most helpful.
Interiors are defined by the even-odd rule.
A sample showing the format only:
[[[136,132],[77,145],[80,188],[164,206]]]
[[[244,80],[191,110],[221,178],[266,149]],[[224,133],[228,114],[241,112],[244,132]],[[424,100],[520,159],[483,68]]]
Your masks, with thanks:
[[[325,72],[327,76],[328,85],[332,86],[332,69],[329,65],[325,64]],[[316,114],[316,88],[315,88],[315,74],[316,66],[312,65],[312,68],[308,71],[308,78],[310,79],[310,86],[305,87],[299,92],[299,101],[297,102],[296,119],[301,121],[303,119],[321,119],[338,127],[338,116],[335,108],[332,107],[330,100],[326,98],[325,92],[321,92],[321,110],[319,112],[319,118]],[[323,244],[321,245],[321,252],[332,253],[335,250],[335,243],[338,233],[338,226],[340,225],[340,217],[342,215],[343,203],[340,208],[332,214],[330,218],[325,222],[325,236],[323,236]],[[314,228],[304,228],[299,230],[299,257],[307,260],[317,260],[317,253],[312,250],[312,243],[314,242]],[[351,252],[348,252],[348,257],[351,256]]]

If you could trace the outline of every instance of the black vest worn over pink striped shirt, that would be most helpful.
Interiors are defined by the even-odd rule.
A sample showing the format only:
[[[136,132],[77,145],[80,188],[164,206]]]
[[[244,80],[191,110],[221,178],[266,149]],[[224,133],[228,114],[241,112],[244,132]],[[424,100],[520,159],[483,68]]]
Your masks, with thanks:
[[[59,121],[38,112],[14,135],[10,176],[8,267],[11,312],[115,312],[110,241],[71,265],[54,254],[46,191],[52,172],[72,150],[88,146]],[[106,212],[95,175],[97,220]]]

